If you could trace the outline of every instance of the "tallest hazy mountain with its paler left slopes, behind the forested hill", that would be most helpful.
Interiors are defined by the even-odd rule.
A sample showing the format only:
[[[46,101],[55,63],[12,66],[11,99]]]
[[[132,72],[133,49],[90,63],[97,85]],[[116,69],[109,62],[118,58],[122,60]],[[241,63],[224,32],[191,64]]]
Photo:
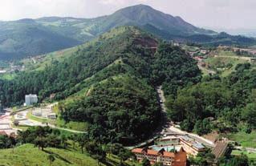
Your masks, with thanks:
[[[212,30],[197,28],[180,17],[173,17],[150,6],[137,5],[117,10],[114,14],[99,18],[39,18],[35,20],[51,30],[70,38],[87,41],[117,26],[153,26],[169,35],[217,34]],[[148,30],[155,34],[155,30]]]

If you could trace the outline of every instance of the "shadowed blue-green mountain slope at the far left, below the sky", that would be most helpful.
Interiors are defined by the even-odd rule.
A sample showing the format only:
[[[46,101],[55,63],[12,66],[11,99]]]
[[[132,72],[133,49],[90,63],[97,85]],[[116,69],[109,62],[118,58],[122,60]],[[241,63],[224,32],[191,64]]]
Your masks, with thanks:
[[[32,19],[0,22],[0,59],[18,59],[73,47],[81,42],[55,33]]]

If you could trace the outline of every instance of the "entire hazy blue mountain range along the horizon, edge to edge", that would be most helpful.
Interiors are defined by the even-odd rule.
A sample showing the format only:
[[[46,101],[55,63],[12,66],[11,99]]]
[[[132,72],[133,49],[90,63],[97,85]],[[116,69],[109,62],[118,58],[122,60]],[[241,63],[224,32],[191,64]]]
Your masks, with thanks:
[[[139,26],[161,38],[179,42],[213,45],[256,43],[253,38],[242,38],[243,41],[232,36],[219,39],[219,34],[213,30],[198,28],[150,6],[137,5],[99,18],[47,17],[0,22],[0,59],[17,59],[72,47],[117,26]]]

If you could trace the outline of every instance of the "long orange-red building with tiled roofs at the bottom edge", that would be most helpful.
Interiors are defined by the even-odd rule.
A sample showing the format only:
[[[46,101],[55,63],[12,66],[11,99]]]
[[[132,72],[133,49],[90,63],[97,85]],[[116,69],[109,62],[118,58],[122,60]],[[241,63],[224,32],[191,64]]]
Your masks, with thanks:
[[[150,161],[150,164],[162,163],[165,166],[185,166],[187,154],[181,148],[179,152],[167,152],[164,148],[156,151],[149,148],[134,148],[132,153],[136,159],[142,161],[144,158]]]

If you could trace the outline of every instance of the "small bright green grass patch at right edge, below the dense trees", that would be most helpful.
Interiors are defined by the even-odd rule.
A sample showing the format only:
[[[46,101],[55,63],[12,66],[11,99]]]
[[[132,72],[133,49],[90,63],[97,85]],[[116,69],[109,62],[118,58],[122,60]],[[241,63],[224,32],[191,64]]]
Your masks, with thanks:
[[[237,132],[228,135],[228,138],[237,141],[242,147],[256,148],[256,131],[253,131],[250,134],[246,134],[246,132]]]

